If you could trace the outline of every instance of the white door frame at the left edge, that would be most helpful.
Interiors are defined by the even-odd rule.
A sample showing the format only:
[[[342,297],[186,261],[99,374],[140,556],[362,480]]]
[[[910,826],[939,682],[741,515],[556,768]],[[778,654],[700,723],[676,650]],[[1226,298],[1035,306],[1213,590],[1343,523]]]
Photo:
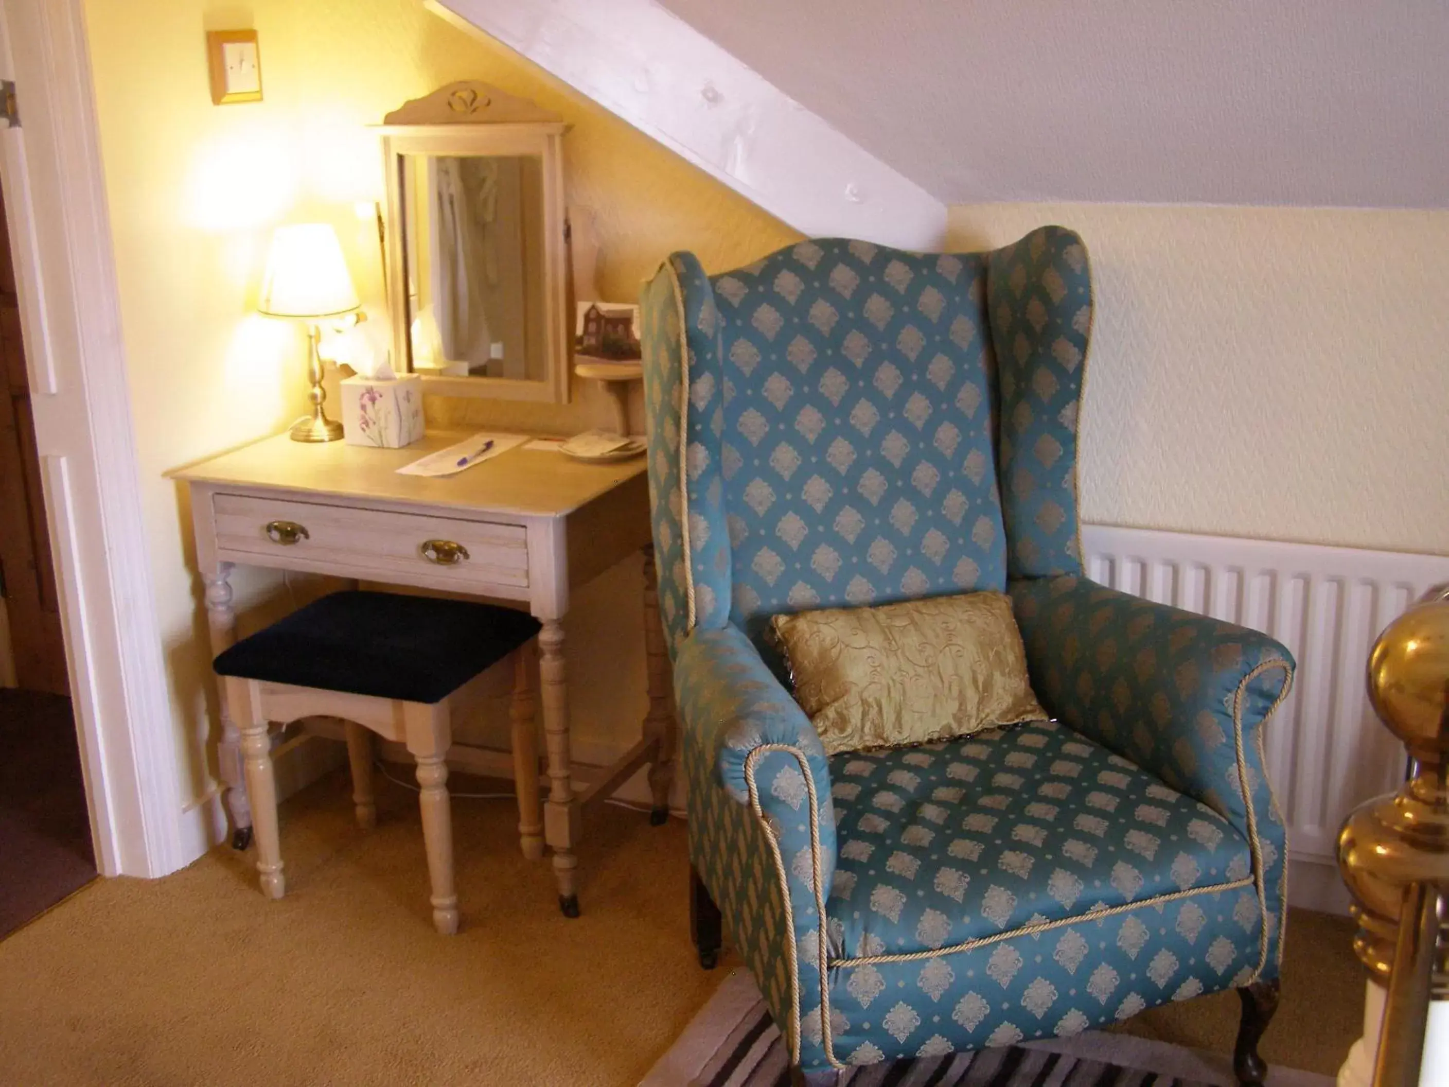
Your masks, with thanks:
[[[151,588],[130,390],[81,0],[4,0],[0,184],[96,859],[190,862]]]

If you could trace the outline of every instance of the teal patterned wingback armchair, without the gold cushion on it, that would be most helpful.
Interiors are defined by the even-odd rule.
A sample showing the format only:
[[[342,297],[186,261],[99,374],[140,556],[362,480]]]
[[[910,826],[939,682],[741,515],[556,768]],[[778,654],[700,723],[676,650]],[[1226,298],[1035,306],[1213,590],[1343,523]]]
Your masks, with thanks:
[[[1082,577],[1087,251],[806,241],[643,290],[649,494],[690,788],[694,929],[794,1075],[1069,1035],[1236,987],[1277,1001],[1284,825],[1265,635]],[[1053,716],[827,758],[769,616],[1007,591]]]

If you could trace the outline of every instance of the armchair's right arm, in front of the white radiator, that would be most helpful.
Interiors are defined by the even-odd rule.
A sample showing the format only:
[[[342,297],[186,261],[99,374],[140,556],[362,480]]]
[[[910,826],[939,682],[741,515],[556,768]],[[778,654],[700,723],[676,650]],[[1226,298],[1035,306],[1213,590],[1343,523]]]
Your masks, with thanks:
[[[1248,839],[1264,922],[1258,975],[1277,977],[1287,846],[1264,726],[1288,696],[1293,654],[1256,630],[1085,578],[1013,581],[1010,593],[1045,709]]]

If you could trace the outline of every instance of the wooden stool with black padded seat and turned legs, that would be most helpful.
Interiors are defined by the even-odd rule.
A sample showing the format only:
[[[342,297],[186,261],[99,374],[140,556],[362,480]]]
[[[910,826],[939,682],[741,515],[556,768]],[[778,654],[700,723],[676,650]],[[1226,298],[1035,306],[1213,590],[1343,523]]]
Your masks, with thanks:
[[[333,716],[346,722],[358,825],[377,820],[371,736],[401,741],[417,759],[419,804],[433,925],[458,930],[448,764],[449,696],[493,664],[513,657],[513,765],[523,852],[543,855],[538,739],[533,732],[533,638],[523,612],[468,600],[345,591],[325,596],[216,658],[232,717],[242,732],[262,891],[285,893],[277,835],[272,720]]]

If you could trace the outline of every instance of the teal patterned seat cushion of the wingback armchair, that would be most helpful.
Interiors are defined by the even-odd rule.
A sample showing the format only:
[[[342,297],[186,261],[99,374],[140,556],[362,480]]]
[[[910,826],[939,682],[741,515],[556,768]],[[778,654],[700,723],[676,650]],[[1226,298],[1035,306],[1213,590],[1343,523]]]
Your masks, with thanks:
[[[1208,890],[1230,891],[1232,916],[1217,917],[1220,906],[1200,920],[1174,909],[1185,957],[1213,954],[1194,925],[1223,922],[1239,942],[1256,944],[1248,841],[1206,804],[1055,722],[835,755],[830,780],[839,835],[826,903],[832,959],[949,949],[1072,919],[1093,925],[1090,915],[1103,910]]]

